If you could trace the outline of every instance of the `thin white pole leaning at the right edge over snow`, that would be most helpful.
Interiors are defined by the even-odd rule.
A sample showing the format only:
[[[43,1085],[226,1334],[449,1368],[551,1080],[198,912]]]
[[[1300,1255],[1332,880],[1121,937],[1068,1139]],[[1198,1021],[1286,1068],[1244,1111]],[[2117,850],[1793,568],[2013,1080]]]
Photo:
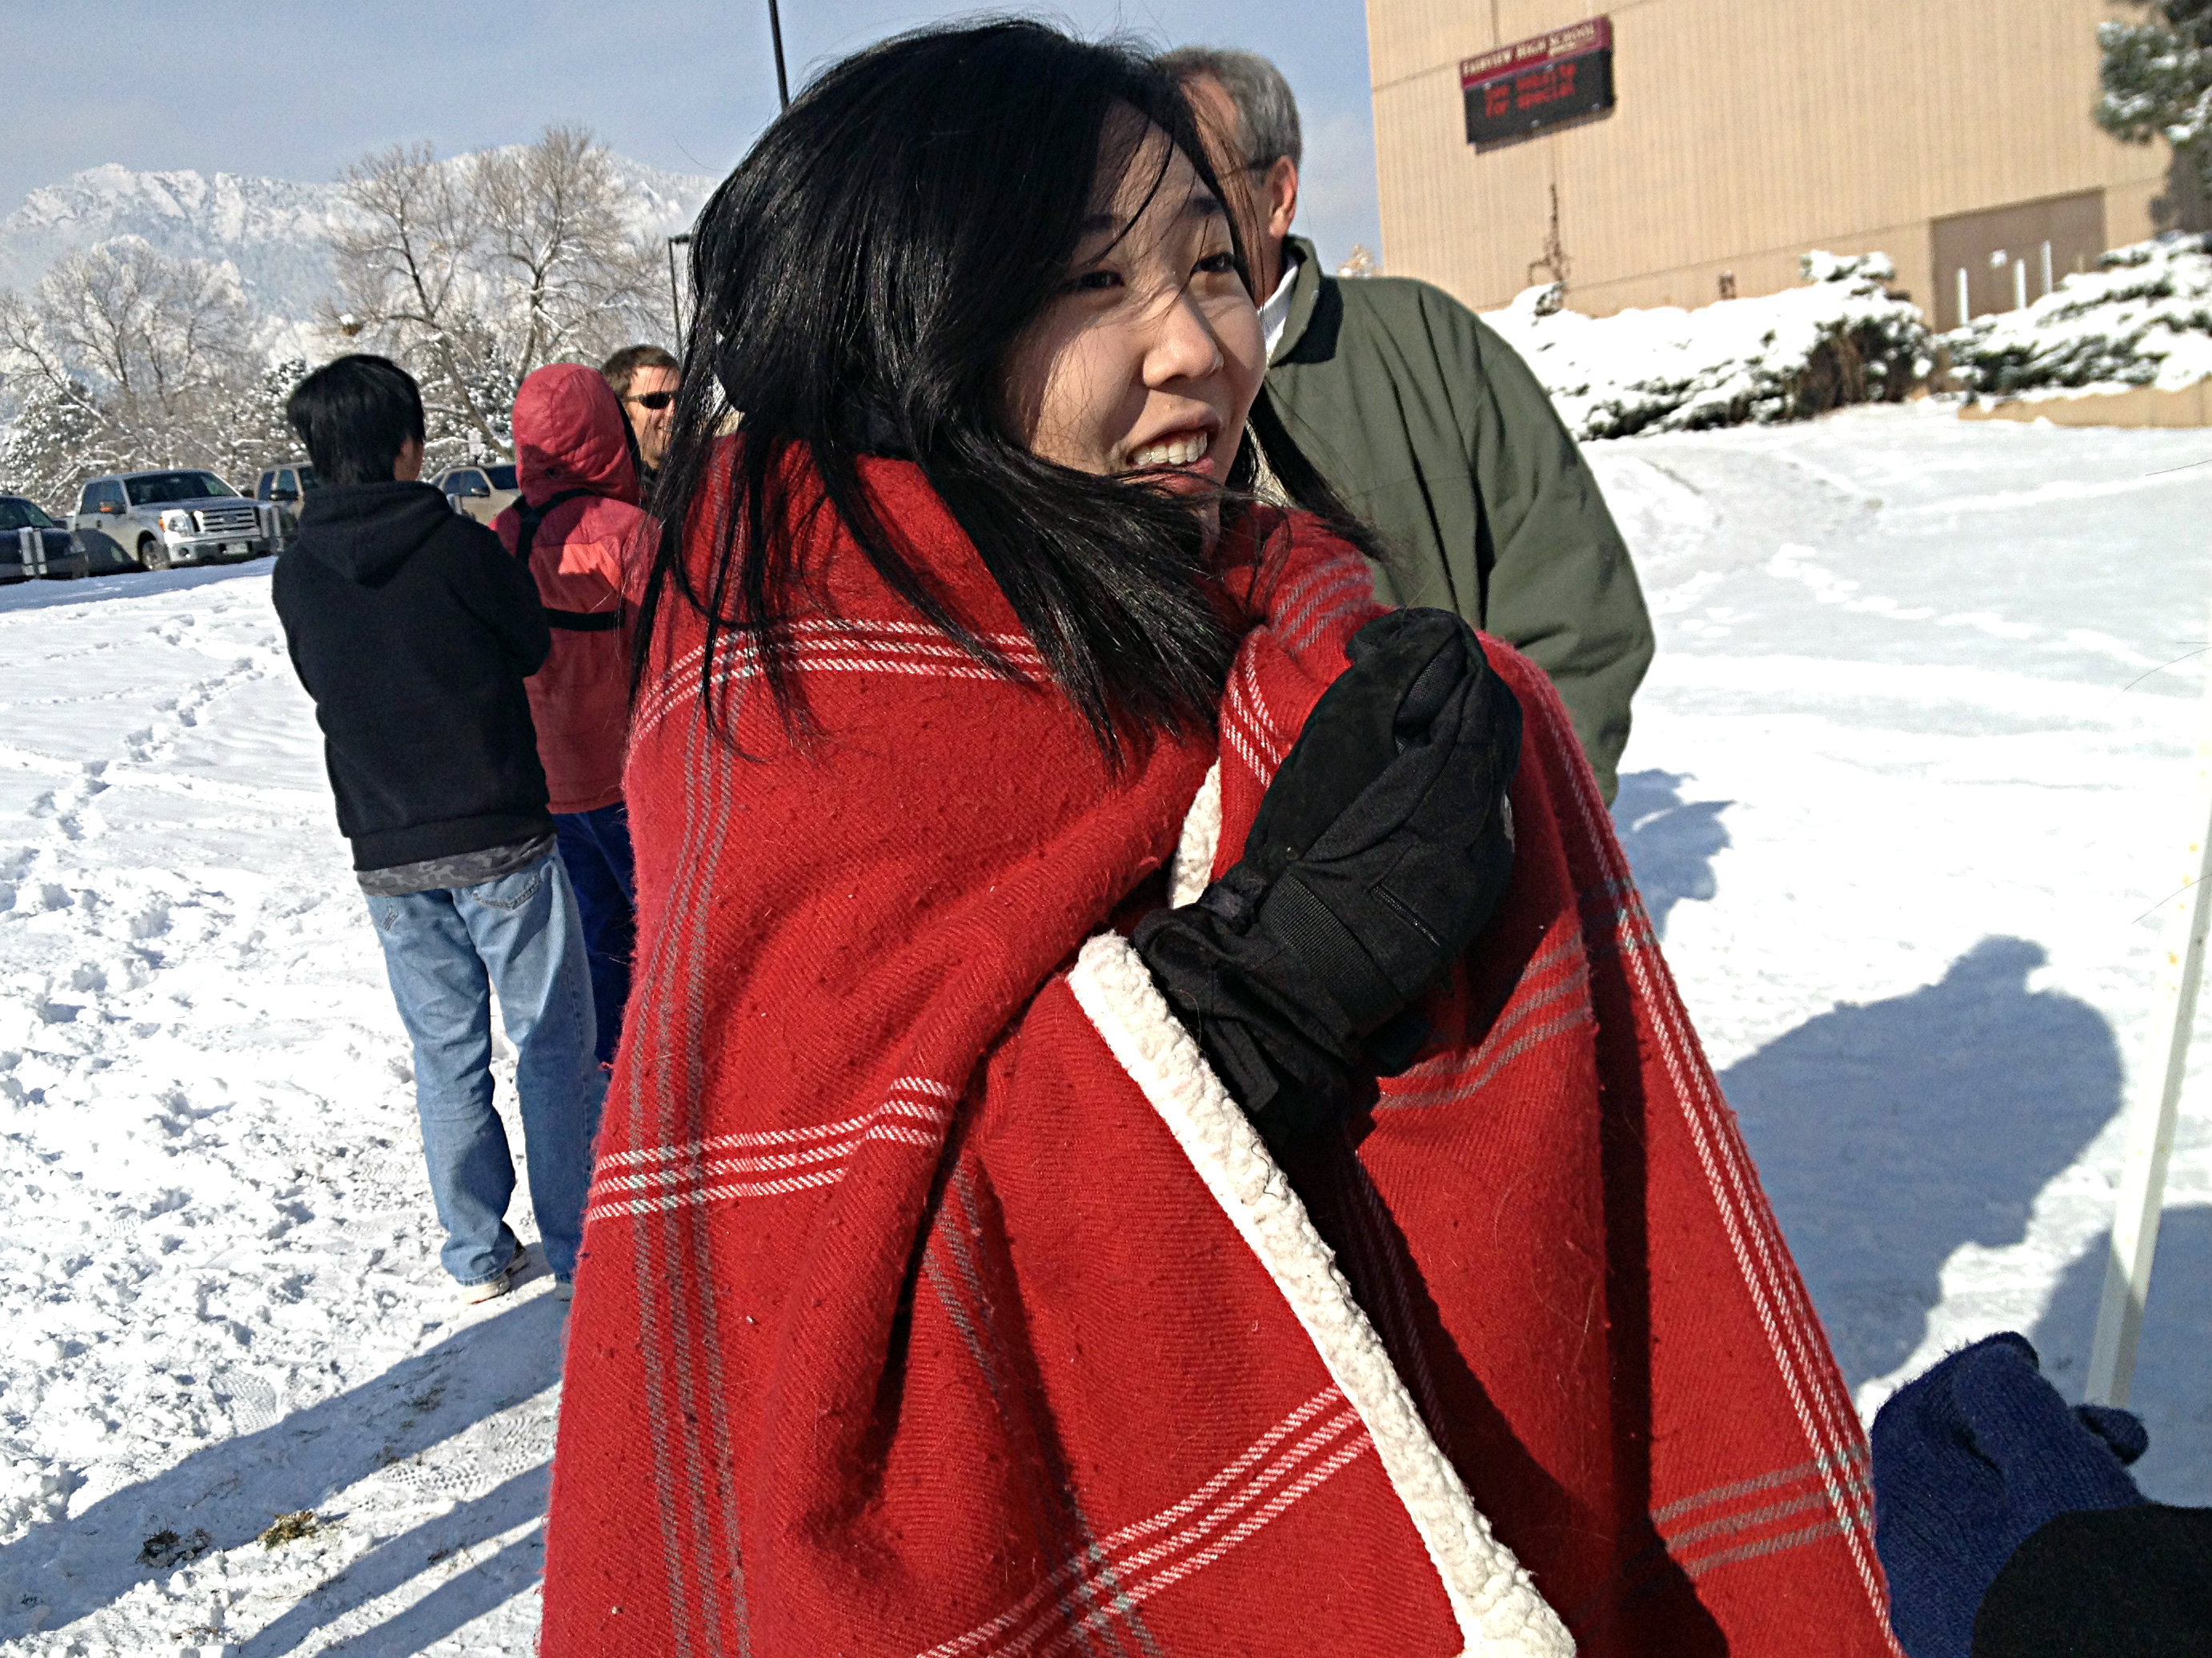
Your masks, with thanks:
[[[2112,1251],[2104,1262],[2097,1337],[2088,1355],[2088,1402],[2128,1404],[2135,1344],[2143,1333],[2150,1262],[2159,1253],[2159,1211],[2166,1207],[2166,1158],[2174,1150],[2181,1083],[2197,1032],[2197,993],[2203,988],[2205,933],[2212,931],[2212,670],[2205,674],[2205,723],[2197,738],[2197,838],[2190,842],[2190,884],[2170,898],[2159,946],[2159,986],[2150,1004],[2143,1068],[2128,1101],[2128,1138],[2112,1205]]]

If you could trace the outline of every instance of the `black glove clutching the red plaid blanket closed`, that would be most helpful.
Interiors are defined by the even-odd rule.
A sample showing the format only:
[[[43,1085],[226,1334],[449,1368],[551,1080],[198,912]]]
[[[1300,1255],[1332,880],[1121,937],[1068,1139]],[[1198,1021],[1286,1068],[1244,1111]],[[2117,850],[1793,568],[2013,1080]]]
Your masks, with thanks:
[[[1243,858],[1135,944],[1237,1103],[1274,1143],[1329,1121],[1358,1072],[1396,1074],[1409,1004],[1482,931],[1513,873],[1522,712],[1449,610],[1394,610],[1261,800]]]

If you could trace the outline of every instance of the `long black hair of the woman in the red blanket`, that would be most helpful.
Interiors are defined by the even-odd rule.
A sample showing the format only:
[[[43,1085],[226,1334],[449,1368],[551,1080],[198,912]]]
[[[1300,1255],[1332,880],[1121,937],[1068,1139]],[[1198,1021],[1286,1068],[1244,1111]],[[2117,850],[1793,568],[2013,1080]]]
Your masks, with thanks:
[[[1221,195],[1172,77],[1124,46],[1022,20],[922,29],[847,57],[754,144],[692,239],[697,309],[655,497],[664,531],[639,674],[672,595],[706,617],[710,718],[721,723],[717,683],[732,683],[717,652],[734,648],[785,725],[810,730],[787,626],[825,601],[781,489],[787,451],[803,447],[883,581],[1013,676],[898,550],[860,484],[863,455],[920,466],[1110,758],[1126,738],[1212,723],[1237,641],[1201,586],[1199,513],[1040,460],[1006,420],[1009,356],[1066,279],[1117,106],[1164,130]],[[1128,159],[1144,153],[1135,137]],[[1241,243],[1237,259],[1248,270]],[[732,411],[743,442],[723,449]],[[1243,449],[1237,495],[1256,475]],[[1301,458],[1283,455],[1276,473],[1334,506]],[[721,486],[732,511],[699,570],[686,528]]]

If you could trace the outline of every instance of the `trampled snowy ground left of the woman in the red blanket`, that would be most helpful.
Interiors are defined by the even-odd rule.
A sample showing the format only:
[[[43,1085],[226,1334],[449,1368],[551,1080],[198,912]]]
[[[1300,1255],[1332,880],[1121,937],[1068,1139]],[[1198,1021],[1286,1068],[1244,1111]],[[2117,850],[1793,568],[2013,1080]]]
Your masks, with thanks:
[[[438,1271],[268,570],[0,590],[7,1651],[533,1645],[560,1315]]]

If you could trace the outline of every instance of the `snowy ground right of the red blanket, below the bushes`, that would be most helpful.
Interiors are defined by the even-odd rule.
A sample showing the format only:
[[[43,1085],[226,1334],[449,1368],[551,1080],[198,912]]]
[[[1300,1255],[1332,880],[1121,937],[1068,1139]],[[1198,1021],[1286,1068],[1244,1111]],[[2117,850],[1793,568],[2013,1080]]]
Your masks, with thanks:
[[[1615,811],[1860,1408],[2022,1329],[2079,1397],[2205,730],[2212,431],[1929,405],[1586,453],[1659,661]],[[2212,1048],[2212,1019],[2199,1057]],[[2212,1074],[2135,1406],[2212,1503]]]

